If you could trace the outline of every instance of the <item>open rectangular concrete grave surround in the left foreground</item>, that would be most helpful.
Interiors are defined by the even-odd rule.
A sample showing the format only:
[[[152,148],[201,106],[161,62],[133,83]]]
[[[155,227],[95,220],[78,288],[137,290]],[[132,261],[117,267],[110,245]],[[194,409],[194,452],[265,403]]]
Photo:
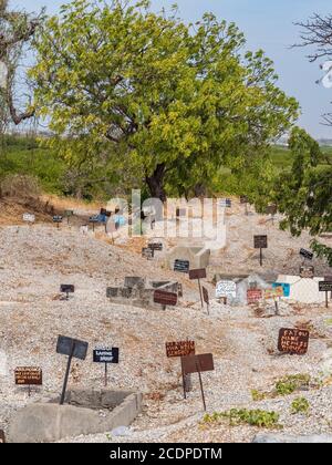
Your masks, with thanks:
[[[131,425],[142,410],[142,394],[123,390],[74,390],[68,392],[65,405],[55,402],[35,403],[19,411],[10,424],[8,442],[50,443],[106,433]]]

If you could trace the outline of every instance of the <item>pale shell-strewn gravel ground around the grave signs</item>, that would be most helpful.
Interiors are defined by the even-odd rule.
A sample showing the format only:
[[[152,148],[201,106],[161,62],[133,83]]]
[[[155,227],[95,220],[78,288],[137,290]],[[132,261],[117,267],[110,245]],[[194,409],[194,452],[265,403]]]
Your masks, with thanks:
[[[237,216],[241,218],[237,219]],[[232,228],[238,221],[243,230],[229,236],[230,245],[224,255],[214,256],[210,275],[226,270],[250,271],[251,267],[257,271],[259,267],[248,259],[252,250],[247,250],[243,244],[251,247],[251,229],[256,225],[260,231],[261,217],[248,218],[249,223],[243,223],[247,217],[240,215],[240,209],[228,216]],[[286,272],[288,252],[273,239],[277,241],[279,235],[284,234],[269,223],[271,256],[264,271]],[[280,237],[280,244],[288,244],[292,250],[297,250],[300,242],[305,246],[299,239],[286,242],[286,238]],[[292,261],[288,259],[287,262],[292,269]],[[317,266],[324,271],[322,264]],[[105,289],[122,282],[125,276],[180,278],[185,286],[181,306],[157,311],[111,304]],[[251,399],[252,389],[271,390],[276,380],[286,374],[321,375],[332,358],[331,349],[329,352],[331,313],[323,307],[290,304],[286,306],[282,317],[256,318],[248,307],[232,308],[212,301],[210,316],[207,316],[198,303],[191,304],[198,302],[198,292],[196,285],[185,277],[143,260],[125,250],[123,245],[120,248],[92,236],[82,236],[75,228],[56,230],[41,225],[0,228],[0,360],[7,356],[8,362],[7,375],[0,370],[0,428],[4,431],[19,409],[59,395],[65,358],[55,353],[55,344],[58,335],[64,334],[90,343],[87,360],[73,364],[71,386],[103,385],[103,370],[92,363],[92,349],[104,343],[121,350],[121,363],[110,370],[110,385],[144,393],[144,410],[127,435],[113,437],[107,432],[68,438],[66,442],[252,441],[258,432],[252,426],[230,427],[227,422],[201,424],[204,412],[197,376],[193,375],[194,389],[188,399],[183,399],[179,361],[166,359],[165,342],[187,337],[195,339],[197,353],[214,353],[215,371],[203,374],[209,413],[231,407],[273,410],[280,413],[280,423],[288,434],[332,434],[332,388],[328,382],[318,390],[286,397],[260,402]],[[76,286],[70,301],[59,300],[60,283]],[[279,329],[299,321],[314,330],[308,354],[277,354]],[[19,365],[43,369],[44,385],[30,399],[24,390],[13,385],[13,370]],[[324,374],[329,374],[326,370]],[[310,402],[308,415],[291,414],[290,404],[297,396],[304,396]]]

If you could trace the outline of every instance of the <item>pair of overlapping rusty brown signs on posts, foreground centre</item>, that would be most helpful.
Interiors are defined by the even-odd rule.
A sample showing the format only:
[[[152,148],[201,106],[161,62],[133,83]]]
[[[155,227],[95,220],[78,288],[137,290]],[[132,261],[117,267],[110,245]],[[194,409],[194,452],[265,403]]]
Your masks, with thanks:
[[[204,410],[206,410],[201,373],[215,370],[214,355],[211,353],[203,353],[197,355],[195,350],[195,341],[189,340],[166,342],[166,355],[167,358],[180,358],[185,399],[187,397],[185,381],[186,376],[193,373],[198,373],[203,405]]]

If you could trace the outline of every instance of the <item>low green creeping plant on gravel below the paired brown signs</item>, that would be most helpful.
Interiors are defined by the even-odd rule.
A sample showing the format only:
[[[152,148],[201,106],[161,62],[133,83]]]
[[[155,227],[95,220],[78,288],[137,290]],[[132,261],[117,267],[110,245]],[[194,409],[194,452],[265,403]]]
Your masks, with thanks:
[[[280,428],[279,414],[264,410],[231,409],[228,412],[215,412],[211,415],[206,414],[203,418],[204,424],[219,423],[225,420],[229,421],[230,426],[248,424],[250,426]]]

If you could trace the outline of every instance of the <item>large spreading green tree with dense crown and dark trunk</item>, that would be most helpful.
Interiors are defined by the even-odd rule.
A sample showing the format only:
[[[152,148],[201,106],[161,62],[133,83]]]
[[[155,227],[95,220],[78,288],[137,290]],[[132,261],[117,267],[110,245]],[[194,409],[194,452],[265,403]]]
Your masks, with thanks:
[[[38,114],[60,147],[64,135],[107,141],[114,166],[125,163],[152,196],[189,195],[221,166],[247,169],[297,117],[271,61],[243,46],[237,27],[212,14],[188,27],[147,1],[75,0],[35,40]]]

